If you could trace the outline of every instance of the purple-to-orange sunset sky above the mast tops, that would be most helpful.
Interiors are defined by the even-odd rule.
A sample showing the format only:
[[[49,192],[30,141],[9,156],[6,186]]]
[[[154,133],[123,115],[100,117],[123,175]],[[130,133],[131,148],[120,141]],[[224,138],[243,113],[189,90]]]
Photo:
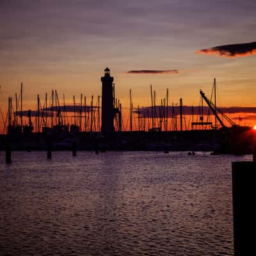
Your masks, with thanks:
[[[24,108],[52,89],[97,97],[106,67],[124,107],[130,88],[148,106],[150,84],[159,100],[169,88],[170,102],[195,106],[214,77],[220,106],[256,106],[255,12],[255,0],[1,0],[1,106],[20,82]],[[220,54],[233,44],[249,52]]]

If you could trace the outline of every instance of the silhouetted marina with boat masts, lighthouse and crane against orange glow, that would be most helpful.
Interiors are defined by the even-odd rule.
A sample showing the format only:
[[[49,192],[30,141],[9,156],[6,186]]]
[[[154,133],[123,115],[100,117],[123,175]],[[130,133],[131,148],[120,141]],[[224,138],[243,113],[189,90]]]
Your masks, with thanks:
[[[63,95],[61,104],[57,91],[52,90],[49,100],[45,93],[44,104],[37,95],[37,110],[26,111],[22,106],[21,84],[19,95],[15,93],[15,106],[12,97],[8,98],[6,119],[1,111],[0,149],[10,143],[11,150],[46,150],[51,141],[51,150],[70,150],[72,143],[76,143],[77,150],[208,150],[252,154],[255,132],[252,127],[237,125],[217,108],[216,79],[210,98],[200,90],[200,106],[191,107],[189,122],[182,98],[179,106],[173,103],[169,106],[167,89],[166,97],[157,105],[156,91],[151,85],[151,106],[134,109],[130,90],[129,115],[125,115],[113,81],[109,68],[105,68],[101,77],[102,95],[95,103],[92,96],[90,105],[83,94],[79,103],[73,97],[73,106],[65,104]]]

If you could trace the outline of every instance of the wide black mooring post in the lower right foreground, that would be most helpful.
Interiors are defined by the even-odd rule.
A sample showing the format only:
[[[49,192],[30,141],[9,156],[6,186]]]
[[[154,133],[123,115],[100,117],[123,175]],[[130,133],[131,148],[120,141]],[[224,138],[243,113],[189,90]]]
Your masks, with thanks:
[[[253,159],[256,157],[253,153]],[[232,163],[235,256],[255,254],[256,162]],[[254,252],[254,253],[253,253]]]

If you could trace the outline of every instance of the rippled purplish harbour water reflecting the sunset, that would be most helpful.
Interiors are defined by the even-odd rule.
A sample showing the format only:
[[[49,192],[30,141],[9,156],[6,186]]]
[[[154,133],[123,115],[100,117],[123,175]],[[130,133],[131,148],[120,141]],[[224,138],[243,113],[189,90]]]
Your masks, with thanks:
[[[231,162],[198,152],[0,152],[0,255],[232,255]]]

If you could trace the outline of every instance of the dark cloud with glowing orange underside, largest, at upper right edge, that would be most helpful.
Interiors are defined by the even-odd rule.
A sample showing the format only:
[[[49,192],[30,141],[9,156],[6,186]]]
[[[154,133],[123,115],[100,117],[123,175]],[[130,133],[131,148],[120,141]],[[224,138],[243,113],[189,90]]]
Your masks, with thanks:
[[[245,44],[228,44],[202,49],[196,54],[216,55],[226,58],[236,58],[242,56],[256,55],[256,42]]]

